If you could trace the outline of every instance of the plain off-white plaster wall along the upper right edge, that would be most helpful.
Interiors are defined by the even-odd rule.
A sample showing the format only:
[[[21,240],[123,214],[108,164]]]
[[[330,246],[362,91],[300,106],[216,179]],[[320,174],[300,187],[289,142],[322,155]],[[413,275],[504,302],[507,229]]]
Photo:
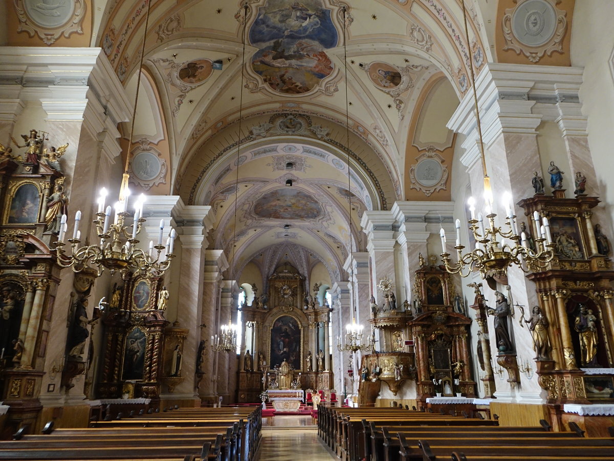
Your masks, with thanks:
[[[593,155],[602,206],[614,218],[612,183],[612,146],[614,146],[614,2],[581,0],[576,2],[572,29],[572,66],[584,67],[580,87],[583,114],[588,116],[588,141]],[[608,235],[612,238],[612,235]]]

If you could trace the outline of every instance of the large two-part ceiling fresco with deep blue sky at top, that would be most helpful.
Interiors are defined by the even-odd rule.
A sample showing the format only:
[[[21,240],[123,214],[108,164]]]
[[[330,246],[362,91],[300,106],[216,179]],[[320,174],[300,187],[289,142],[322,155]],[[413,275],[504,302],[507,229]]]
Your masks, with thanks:
[[[321,0],[268,0],[249,30],[258,48],[252,69],[276,92],[308,92],[333,71],[326,50],[336,47],[338,33]]]

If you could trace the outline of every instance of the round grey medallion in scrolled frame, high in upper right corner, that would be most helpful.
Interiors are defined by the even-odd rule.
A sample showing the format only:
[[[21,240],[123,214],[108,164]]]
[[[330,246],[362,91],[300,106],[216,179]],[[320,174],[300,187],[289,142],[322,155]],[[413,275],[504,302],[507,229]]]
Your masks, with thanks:
[[[518,6],[505,10],[502,29],[503,50],[523,53],[536,63],[544,54],[563,52],[563,37],[567,31],[565,12],[559,10],[561,0],[521,0]]]

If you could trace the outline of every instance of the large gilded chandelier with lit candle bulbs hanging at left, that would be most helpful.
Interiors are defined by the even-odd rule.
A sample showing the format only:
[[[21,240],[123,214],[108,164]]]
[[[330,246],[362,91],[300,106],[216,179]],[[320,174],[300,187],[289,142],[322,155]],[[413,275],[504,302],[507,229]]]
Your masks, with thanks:
[[[108,269],[111,274],[119,270],[122,275],[128,271],[134,271],[135,274],[145,277],[158,277],[168,269],[171,259],[175,256],[173,254],[177,236],[175,230],[171,230],[166,239],[166,245],[163,245],[164,220],[161,220],[157,244],[154,245],[153,240],[151,240],[147,251],[137,248],[136,245],[139,240],[136,237],[141,232],[142,224],[146,221],[145,218],[142,218],[145,197],[141,194],[141,197],[134,203],[132,224],[128,225],[126,218],[131,213],[128,213],[126,205],[130,192],[127,188],[125,191],[124,194],[121,194],[119,202],[115,203],[115,215],[111,223],[111,206],[104,207],[107,192],[104,187],[101,190],[98,199],[98,212],[96,219],[93,221],[100,239],[96,245],[80,246],[79,223],[81,211],[77,211],[72,238],[68,239],[71,249],[70,253],[67,253],[64,250],[64,246],[66,246],[66,242],[64,242],[67,228],[66,215],[62,215],[58,241],[52,244],[52,251],[55,251],[60,267],[71,267],[74,272],[80,272],[85,267],[90,267],[95,269],[98,275],[101,275],[104,269]],[[162,254],[162,250],[165,250],[164,254]]]

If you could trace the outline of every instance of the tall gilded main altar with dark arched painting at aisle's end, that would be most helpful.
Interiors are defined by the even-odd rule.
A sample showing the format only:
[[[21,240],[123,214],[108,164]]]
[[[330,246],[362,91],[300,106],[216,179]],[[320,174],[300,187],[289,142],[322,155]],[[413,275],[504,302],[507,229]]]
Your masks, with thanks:
[[[331,391],[332,309],[320,288],[316,284],[310,291],[305,277],[289,265],[268,277],[263,293],[252,284],[253,301],[241,305],[247,350],[238,372],[239,402],[259,401],[266,390],[275,408],[298,411],[304,390]]]

